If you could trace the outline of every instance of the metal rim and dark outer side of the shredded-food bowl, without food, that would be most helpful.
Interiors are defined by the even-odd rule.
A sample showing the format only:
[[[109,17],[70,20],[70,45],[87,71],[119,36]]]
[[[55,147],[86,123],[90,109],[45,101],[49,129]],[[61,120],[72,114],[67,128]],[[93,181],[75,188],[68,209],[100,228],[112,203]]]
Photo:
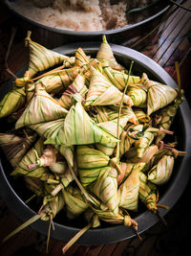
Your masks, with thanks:
[[[106,31],[96,31],[96,32],[77,32],[69,31],[64,29],[56,29],[38,23],[27,16],[24,16],[14,9],[12,9],[8,4],[5,3],[5,0],[2,1],[17,17],[18,27],[21,27],[22,30],[32,30],[32,38],[46,47],[54,48],[59,45],[64,45],[77,41],[100,41],[101,35],[107,35],[107,39],[110,42],[117,44],[125,44],[125,46],[131,47],[139,37],[147,35],[154,28],[156,28],[162,20],[162,17],[169,10],[170,2],[166,0],[161,0],[159,3],[154,5],[153,9],[136,23],[126,25],[119,29],[111,29]],[[144,13],[144,12],[143,12]],[[135,13],[138,15],[138,13]],[[24,21],[24,22],[23,22]],[[157,32],[157,31],[156,31]],[[155,33],[148,36],[141,42],[141,47],[147,45],[151,41],[151,38]]]

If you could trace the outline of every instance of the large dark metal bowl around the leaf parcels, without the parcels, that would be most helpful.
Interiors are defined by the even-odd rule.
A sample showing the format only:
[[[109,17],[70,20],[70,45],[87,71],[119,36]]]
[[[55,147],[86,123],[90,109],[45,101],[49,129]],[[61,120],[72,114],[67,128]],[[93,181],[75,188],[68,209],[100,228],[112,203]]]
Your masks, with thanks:
[[[134,60],[133,73],[140,75],[146,72],[150,79],[160,81],[170,86],[176,87],[176,82],[151,58],[138,53],[135,50],[111,44],[117,60],[129,67],[131,60]],[[54,49],[55,51],[73,55],[78,47],[81,47],[86,54],[94,56],[99,48],[99,44],[95,42],[82,42],[66,45]],[[17,76],[21,77],[25,67],[21,69]],[[11,88],[11,82],[8,84],[8,90]],[[4,94],[7,91],[4,91]],[[2,95],[3,96],[3,95]],[[1,97],[2,97],[1,96]],[[191,120],[190,108],[186,101],[180,105],[180,110],[174,121],[173,130],[178,137],[179,150],[187,151],[185,157],[177,158],[173,175],[168,183],[159,188],[159,203],[169,206],[171,209],[180,198],[189,179],[191,165]],[[1,124],[2,125],[2,124]],[[0,162],[0,196],[7,203],[11,211],[17,215],[22,221],[27,221],[36,214],[38,208],[25,204],[26,189],[23,184],[19,184],[19,178],[14,180],[8,174],[11,172],[11,165],[6,160],[5,155],[1,152]],[[166,215],[169,210],[160,209],[161,216]],[[145,208],[139,209],[138,214],[133,216],[138,221],[138,233],[141,233],[157,223],[159,219]],[[55,229],[52,232],[53,239],[68,242],[74,234],[85,225],[81,219],[77,221],[63,221],[63,213],[59,213],[54,219]],[[32,224],[32,228],[47,235],[49,223],[46,221],[36,221]],[[121,225],[109,225],[96,229],[90,229],[78,241],[77,244],[110,244],[122,241],[135,236],[131,228]]]

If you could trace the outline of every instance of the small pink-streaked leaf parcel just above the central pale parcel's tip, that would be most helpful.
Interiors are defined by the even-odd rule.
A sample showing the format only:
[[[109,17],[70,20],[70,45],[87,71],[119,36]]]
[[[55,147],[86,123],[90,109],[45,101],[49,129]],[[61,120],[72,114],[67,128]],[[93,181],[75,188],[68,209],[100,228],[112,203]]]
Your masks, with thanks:
[[[74,93],[79,93],[82,97],[85,96],[88,88],[85,85],[85,78],[81,75],[77,75],[73,83],[68,87],[68,89],[62,94],[61,98],[58,100],[58,104],[69,109],[73,105],[71,95]]]

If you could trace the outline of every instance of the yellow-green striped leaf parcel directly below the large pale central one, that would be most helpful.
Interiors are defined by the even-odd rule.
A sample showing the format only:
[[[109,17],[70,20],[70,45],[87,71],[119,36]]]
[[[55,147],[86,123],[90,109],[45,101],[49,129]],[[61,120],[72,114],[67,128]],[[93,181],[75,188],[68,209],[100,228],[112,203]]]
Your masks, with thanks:
[[[88,146],[77,146],[76,159],[79,178],[84,187],[94,182],[100,171],[107,167],[110,161],[105,153]]]

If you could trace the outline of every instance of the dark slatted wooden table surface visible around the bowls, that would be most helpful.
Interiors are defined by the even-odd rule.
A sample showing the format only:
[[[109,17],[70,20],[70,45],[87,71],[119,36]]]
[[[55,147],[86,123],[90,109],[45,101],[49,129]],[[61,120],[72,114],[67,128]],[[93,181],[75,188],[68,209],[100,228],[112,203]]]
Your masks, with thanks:
[[[189,0],[183,1],[186,7],[191,8]],[[10,75],[4,71],[4,59],[8,42],[11,37],[11,27],[14,23],[14,15],[0,4],[0,81],[1,89],[6,86]],[[153,37],[146,48],[140,49],[141,53],[153,58],[175,80],[175,61],[180,62],[181,83],[185,92],[185,98],[191,104],[190,64],[191,64],[191,15],[190,12],[178,9],[166,19],[159,27],[157,35]],[[16,35],[11,48],[9,64],[14,73],[26,62],[28,52],[23,47],[23,38]],[[136,46],[135,46],[136,49]],[[142,242],[138,238],[132,238],[116,244],[103,245],[77,245],[66,253],[69,255],[128,255],[128,256],[176,256],[182,251],[189,251],[190,240],[190,213],[189,195],[191,195],[191,182],[189,181],[175,207],[166,215],[168,226],[158,222],[155,226],[144,232]],[[22,222],[7,208],[5,202],[0,199],[0,241]],[[46,237],[27,227],[19,234],[11,238],[6,244],[0,245],[0,255],[44,255]],[[61,249],[64,243],[51,240],[48,255],[62,255]]]

